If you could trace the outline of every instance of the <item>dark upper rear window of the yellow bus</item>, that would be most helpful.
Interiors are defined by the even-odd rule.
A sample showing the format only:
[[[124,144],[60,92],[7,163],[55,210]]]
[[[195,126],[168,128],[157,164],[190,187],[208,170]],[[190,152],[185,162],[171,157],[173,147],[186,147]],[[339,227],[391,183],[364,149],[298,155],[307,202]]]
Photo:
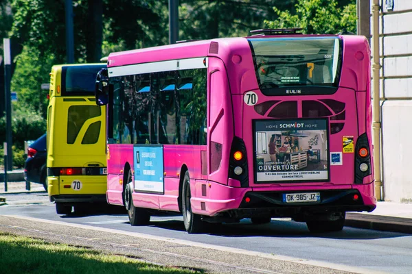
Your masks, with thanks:
[[[63,66],[62,95],[94,96],[96,75],[104,67],[106,67],[106,64]]]

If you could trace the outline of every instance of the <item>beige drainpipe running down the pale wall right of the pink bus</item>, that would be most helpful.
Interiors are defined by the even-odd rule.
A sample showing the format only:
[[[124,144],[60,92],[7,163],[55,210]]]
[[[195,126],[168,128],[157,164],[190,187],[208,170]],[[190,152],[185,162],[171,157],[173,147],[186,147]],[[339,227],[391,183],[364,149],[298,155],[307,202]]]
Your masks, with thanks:
[[[374,177],[375,177],[375,197],[378,201],[383,200],[382,188],[383,184],[380,177],[380,129],[382,127],[380,123],[380,96],[379,96],[379,71],[380,71],[380,57],[379,57],[379,0],[374,0],[372,4],[372,21],[373,21],[373,35],[372,42],[374,45],[374,52],[372,53],[373,64],[372,64],[372,74],[373,74],[373,123],[372,129],[374,130]]]

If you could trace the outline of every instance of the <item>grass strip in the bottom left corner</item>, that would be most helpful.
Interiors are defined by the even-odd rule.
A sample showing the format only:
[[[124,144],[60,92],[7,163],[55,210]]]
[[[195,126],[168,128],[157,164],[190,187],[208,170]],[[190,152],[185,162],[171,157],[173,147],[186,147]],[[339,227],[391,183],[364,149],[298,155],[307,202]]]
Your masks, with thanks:
[[[0,273],[199,273],[0,232]]]

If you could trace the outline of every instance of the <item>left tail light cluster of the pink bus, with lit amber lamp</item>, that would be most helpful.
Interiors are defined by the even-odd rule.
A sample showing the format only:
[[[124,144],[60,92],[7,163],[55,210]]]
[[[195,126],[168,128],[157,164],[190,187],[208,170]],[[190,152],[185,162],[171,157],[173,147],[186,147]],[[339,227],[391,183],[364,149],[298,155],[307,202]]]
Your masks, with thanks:
[[[234,137],[229,158],[229,178],[240,182],[242,188],[249,186],[249,173],[247,169],[246,147],[241,138]]]

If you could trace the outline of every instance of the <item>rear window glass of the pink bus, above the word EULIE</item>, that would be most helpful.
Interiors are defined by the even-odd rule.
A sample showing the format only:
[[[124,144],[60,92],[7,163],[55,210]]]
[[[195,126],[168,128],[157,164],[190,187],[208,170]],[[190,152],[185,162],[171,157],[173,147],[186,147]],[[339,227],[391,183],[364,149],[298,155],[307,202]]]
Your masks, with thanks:
[[[288,86],[337,86],[341,40],[316,38],[249,38],[260,90]]]

